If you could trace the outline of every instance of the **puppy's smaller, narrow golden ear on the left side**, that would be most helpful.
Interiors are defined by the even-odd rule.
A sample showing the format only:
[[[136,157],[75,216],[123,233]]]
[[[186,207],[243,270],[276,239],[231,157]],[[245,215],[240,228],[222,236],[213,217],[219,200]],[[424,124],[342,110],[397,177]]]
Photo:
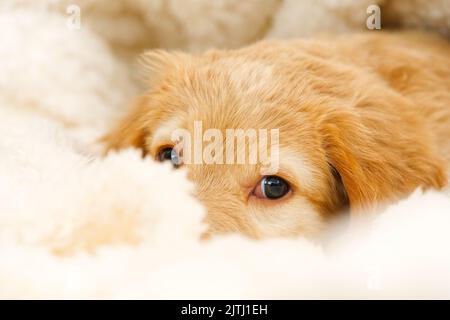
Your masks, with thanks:
[[[106,144],[106,152],[128,147],[145,149],[145,137],[147,135],[145,96],[138,97],[131,105],[130,112],[101,142]]]

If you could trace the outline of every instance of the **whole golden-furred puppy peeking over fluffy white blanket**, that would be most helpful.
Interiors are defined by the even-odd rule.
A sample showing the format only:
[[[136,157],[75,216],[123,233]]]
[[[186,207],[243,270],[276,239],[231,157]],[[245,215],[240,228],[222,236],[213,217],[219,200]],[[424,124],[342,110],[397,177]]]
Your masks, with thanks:
[[[143,62],[149,89],[108,135],[107,149],[136,147],[185,167],[210,234],[315,237],[340,212],[358,216],[447,182],[444,40],[366,33],[201,55],[150,51]],[[180,129],[197,139],[174,138]],[[215,138],[229,129],[278,132],[276,144],[260,143],[278,163],[233,162],[235,154],[225,161],[229,150],[216,146],[216,161],[180,161],[211,142],[208,129]],[[249,155],[257,139],[246,138],[232,152]]]

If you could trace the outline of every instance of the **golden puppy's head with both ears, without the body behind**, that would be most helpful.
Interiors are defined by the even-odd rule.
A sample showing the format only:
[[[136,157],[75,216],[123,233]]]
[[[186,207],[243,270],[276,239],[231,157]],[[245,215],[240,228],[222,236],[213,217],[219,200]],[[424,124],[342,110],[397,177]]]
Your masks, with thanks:
[[[373,79],[351,68],[306,53],[296,63],[290,54],[280,59],[282,49],[147,53],[150,90],[107,137],[108,149],[134,146],[186,168],[214,234],[314,236],[347,207],[361,212],[444,185],[406,101],[388,88],[380,97]]]

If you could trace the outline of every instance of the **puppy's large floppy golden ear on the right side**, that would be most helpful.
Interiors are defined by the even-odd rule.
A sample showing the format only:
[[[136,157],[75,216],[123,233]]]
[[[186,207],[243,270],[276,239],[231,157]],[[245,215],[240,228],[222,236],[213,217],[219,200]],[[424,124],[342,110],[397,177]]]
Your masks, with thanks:
[[[418,187],[445,186],[443,161],[418,121],[367,111],[330,112],[322,128],[329,162],[342,178],[352,213]]]

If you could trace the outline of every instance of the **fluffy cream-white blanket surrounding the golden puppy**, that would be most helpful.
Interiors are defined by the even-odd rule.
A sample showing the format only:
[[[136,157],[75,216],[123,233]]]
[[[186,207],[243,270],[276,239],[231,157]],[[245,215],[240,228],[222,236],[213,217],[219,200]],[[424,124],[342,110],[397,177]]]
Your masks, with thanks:
[[[0,298],[450,298],[445,194],[418,191],[327,247],[201,242],[182,171],[133,150],[96,156],[138,90],[141,48],[241,45],[276,34],[267,20],[288,5],[185,3],[0,3]]]

